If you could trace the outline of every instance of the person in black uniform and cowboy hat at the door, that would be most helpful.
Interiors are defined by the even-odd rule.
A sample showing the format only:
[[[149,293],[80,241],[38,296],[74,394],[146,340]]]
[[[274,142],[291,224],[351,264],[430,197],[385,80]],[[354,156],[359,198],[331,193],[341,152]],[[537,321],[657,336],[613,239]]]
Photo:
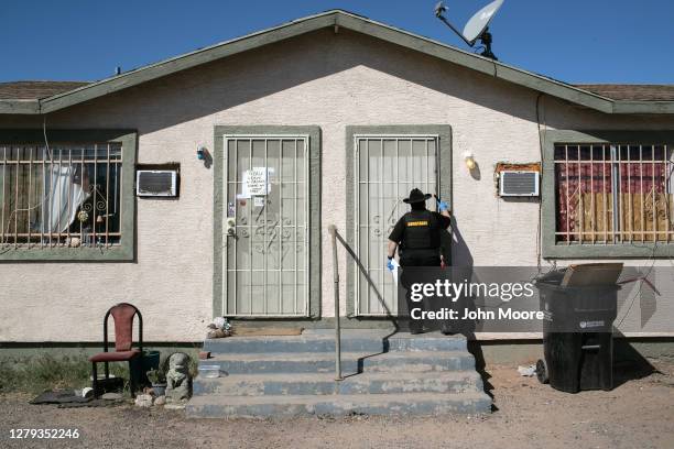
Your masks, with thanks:
[[[410,191],[410,197],[403,199],[412,210],[403,215],[389,236],[387,267],[393,271],[393,258],[399,250],[400,266],[403,269],[403,285],[405,285],[405,266],[441,266],[441,233],[452,225],[449,207],[445,201],[437,201],[438,212],[426,209],[426,200],[431,194],[424,194],[418,188]],[[407,309],[414,303],[406,297]],[[410,319],[410,332],[423,331],[420,320]],[[443,332],[445,331],[443,326]]]

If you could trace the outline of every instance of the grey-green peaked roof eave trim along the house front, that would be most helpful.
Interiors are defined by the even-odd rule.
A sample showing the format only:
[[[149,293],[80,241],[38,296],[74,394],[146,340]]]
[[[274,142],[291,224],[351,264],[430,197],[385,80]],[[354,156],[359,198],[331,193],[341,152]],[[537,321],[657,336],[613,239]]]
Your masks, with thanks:
[[[674,113],[674,101],[616,101],[588,90],[475,55],[442,42],[433,41],[341,10],[327,11],[298,19],[41,100],[29,101],[28,103],[10,100],[4,106],[2,100],[0,100],[0,113],[53,112],[180,70],[334,25],[365,33],[605,113]]]

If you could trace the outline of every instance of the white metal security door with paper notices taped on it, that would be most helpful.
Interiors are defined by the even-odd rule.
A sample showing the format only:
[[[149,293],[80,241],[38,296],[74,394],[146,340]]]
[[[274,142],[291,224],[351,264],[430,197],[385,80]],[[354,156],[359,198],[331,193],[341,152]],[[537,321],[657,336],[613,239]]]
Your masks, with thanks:
[[[308,136],[225,136],[225,316],[308,315]]]

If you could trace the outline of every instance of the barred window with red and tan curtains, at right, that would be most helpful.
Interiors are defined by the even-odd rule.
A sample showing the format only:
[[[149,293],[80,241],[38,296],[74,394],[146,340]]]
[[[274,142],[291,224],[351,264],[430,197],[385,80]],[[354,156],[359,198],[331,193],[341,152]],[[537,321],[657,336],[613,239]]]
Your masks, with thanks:
[[[557,244],[672,242],[672,149],[555,144]]]

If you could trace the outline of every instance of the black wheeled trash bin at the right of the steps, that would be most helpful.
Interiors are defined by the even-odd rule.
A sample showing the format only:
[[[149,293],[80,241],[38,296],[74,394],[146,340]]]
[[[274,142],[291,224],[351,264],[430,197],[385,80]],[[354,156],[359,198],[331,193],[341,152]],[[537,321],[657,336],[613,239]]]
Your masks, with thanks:
[[[536,281],[543,321],[545,360],[536,364],[541,382],[577,393],[613,386],[612,325],[617,314],[616,284],[562,286],[564,271]]]

